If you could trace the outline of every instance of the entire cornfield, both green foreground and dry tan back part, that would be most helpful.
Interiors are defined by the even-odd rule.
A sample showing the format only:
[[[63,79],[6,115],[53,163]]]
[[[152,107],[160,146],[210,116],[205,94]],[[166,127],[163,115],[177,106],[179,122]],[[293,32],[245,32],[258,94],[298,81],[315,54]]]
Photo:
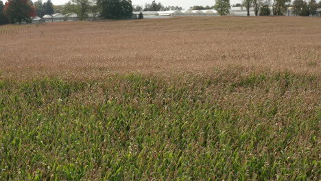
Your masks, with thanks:
[[[319,180],[321,21],[0,27],[0,180]]]

